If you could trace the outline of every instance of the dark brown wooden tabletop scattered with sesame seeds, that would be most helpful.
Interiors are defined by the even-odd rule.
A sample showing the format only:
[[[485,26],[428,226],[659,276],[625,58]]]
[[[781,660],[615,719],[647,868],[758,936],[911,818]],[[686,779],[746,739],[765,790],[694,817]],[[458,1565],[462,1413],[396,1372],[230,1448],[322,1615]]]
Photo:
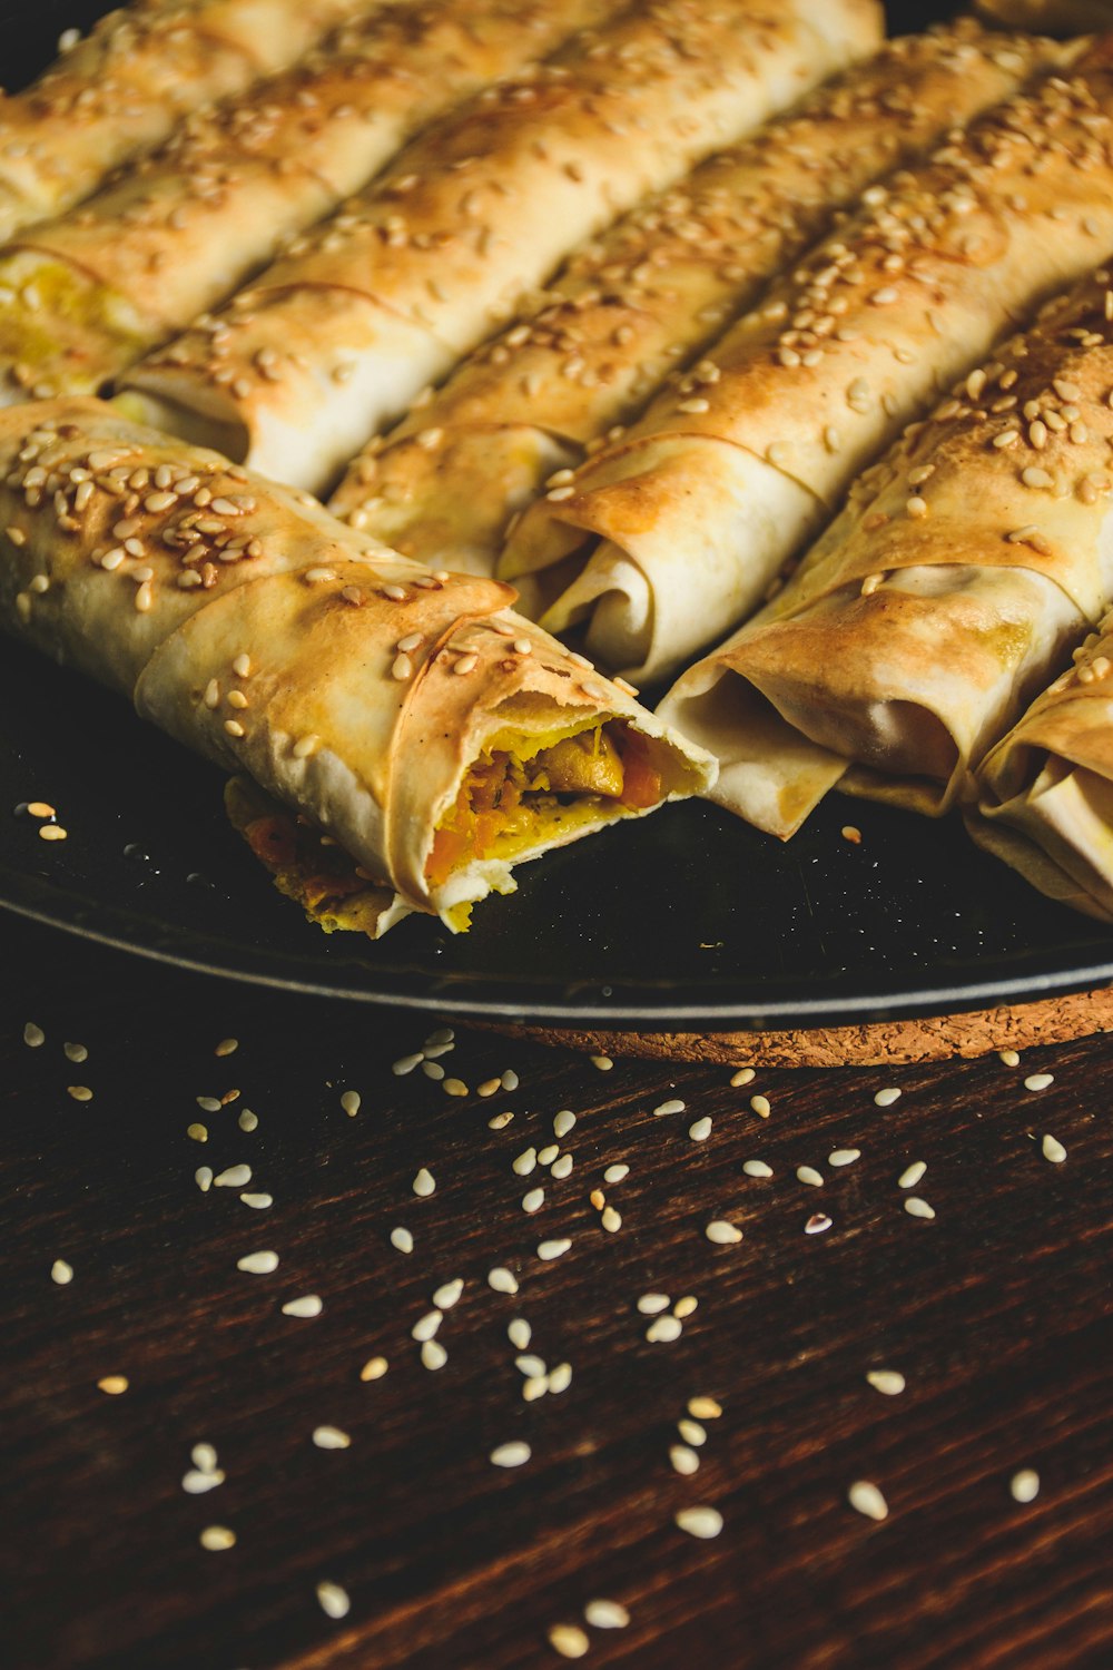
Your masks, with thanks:
[[[532,1670],[562,1662],[561,1623],[597,1665],[1113,1662],[1113,1040],[731,1087],[723,1067],[604,1072],[457,1027],[437,1065],[469,1094],[449,1096],[390,1064],[451,1017],[205,980],[13,917],[0,934],[5,1665]],[[217,1054],[224,1039],[239,1047]],[[477,1094],[506,1069],[517,1089]],[[1053,1082],[1026,1089],[1035,1072]],[[899,1101],[874,1106],[886,1087]],[[684,1111],[654,1116],[669,1099]],[[561,1109],[571,1176],[516,1176]],[[861,1157],[833,1167],[846,1147]],[[604,1184],[619,1162],[629,1177]],[[239,1164],[250,1186],[194,1181]],[[806,1234],[818,1212],[831,1227]],[[743,1239],[711,1244],[714,1219]],[[554,1237],[571,1249],[544,1263]],[[239,1271],[257,1251],[279,1269]],[[494,1266],[516,1296],[489,1288]],[[457,1276],[431,1369],[410,1329]],[[677,1339],[646,1339],[649,1291],[699,1301]],[[305,1294],[320,1316],[282,1314]],[[547,1369],[572,1364],[566,1391],[524,1399],[516,1316]],[[387,1373],[362,1381],[379,1354]],[[871,1369],[906,1389],[881,1394]],[[723,1414],[681,1476],[692,1396]],[[322,1425],[350,1446],[319,1448]],[[519,1440],[526,1465],[491,1463]],[[199,1443],[225,1473],[207,1495],[182,1488]],[[884,1521],[849,1506],[854,1481],[879,1486]],[[721,1535],[679,1530],[686,1506],[718,1508]],[[205,1550],[210,1526],[235,1545]],[[629,1625],[584,1625],[599,1598]]]

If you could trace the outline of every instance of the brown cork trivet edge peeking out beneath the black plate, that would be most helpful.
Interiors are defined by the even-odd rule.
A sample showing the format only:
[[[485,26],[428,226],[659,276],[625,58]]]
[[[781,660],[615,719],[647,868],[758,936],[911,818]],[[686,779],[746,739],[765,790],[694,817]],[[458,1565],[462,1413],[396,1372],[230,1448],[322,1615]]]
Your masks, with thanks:
[[[466,1020],[489,1032],[512,1032],[537,1044],[592,1055],[644,1055],[664,1060],[723,1062],[734,1067],[869,1067],[888,1062],[988,1055],[1113,1032],[1113,990],[1071,992],[1031,1004],[978,1009],[963,1015],[923,1015],[853,1027],[791,1032],[587,1032],[514,1027]]]

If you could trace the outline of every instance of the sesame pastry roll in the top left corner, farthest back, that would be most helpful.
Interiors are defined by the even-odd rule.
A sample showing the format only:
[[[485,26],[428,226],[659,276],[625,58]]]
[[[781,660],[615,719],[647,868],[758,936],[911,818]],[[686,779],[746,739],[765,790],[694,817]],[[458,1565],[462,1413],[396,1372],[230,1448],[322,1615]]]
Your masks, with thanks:
[[[372,0],[142,0],[0,92],[0,239],[58,214],[189,110],[295,63]]]

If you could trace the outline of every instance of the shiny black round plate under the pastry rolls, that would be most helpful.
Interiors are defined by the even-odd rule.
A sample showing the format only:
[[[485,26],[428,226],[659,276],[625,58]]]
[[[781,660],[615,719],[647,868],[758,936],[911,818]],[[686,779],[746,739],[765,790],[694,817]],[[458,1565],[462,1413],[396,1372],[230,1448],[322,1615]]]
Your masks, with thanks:
[[[12,85],[60,22],[27,12]],[[923,22],[926,7],[894,22]],[[33,35],[32,35],[33,32]],[[0,656],[0,903],[150,957],[415,1009],[556,1024],[734,1029],[975,1009],[1113,979],[1113,937],[931,823],[833,795],[781,847],[671,807],[517,872],[466,937],[410,918],[380,945],[322,935],[225,823],[220,778],[117,698],[20,646]],[[47,845],[15,807],[48,800]],[[861,845],[843,838],[854,823]]]

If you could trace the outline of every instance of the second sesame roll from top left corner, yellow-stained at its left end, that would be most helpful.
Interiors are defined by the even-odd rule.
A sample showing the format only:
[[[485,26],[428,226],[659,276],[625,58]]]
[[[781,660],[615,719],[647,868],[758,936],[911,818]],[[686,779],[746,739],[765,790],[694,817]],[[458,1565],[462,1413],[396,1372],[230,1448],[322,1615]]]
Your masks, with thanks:
[[[417,0],[190,115],[0,249],[0,402],[95,394],[359,190],[426,122],[617,0]]]

